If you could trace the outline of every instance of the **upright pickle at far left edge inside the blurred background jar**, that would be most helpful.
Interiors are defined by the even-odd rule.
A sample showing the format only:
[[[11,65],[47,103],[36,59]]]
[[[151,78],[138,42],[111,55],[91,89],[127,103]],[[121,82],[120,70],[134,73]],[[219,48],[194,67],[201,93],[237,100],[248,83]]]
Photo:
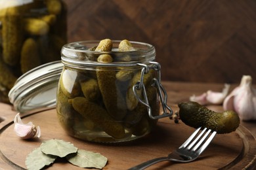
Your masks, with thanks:
[[[20,7],[9,7],[0,10],[2,27],[3,61],[14,66],[20,59],[22,47],[22,15]]]

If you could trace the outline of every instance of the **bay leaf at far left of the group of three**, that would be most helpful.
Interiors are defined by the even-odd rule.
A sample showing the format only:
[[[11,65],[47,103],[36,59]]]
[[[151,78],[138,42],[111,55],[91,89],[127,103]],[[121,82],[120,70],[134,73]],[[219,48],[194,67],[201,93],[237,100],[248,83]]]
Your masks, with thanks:
[[[57,156],[49,156],[41,152],[41,148],[35,148],[26,157],[26,167],[30,170],[42,169],[56,160]]]

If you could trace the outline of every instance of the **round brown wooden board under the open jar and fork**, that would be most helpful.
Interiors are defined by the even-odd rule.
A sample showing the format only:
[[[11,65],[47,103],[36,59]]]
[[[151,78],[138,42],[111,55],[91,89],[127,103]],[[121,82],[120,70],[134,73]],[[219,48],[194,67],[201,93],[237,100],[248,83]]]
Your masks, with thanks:
[[[106,156],[108,164],[104,169],[128,169],[142,161],[167,156],[171,150],[180,146],[194,131],[194,128],[188,127],[182,122],[175,124],[169,118],[164,118],[160,120],[153,133],[144,137],[144,139],[126,144],[98,144],[80,141],[67,135],[58,124],[55,109],[30,114],[22,120],[40,126],[41,138],[30,141],[22,140],[14,133],[13,122],[4,126],[0,135],[1,167],[26,169],[26,156],[33,149],[39,147],[43,141],[61,139],[73,143],[79,149],[99,152]],[[244,156],[249,155],[249,149],[251,148],[251,140],[248,140],[247,137],[252,136],[247,129],[240,127],[234,133],[217,135],[202,156],[192,163],[165,161],[149,169],[228,169],[230,167],[242,169],[251,163],[247,159],[253,159],[253,156],[246,158]],[[80,168],[67,163],[64,159],[58,159],[49,169]]]

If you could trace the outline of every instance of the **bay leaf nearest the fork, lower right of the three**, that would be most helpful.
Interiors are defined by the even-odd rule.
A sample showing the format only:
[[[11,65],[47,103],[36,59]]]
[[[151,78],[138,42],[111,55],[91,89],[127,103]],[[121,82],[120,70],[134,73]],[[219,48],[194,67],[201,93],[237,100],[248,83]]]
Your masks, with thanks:
[[[90,152],[87,150],[77,150],[77,154],[70,154],[66,159],[78,167],[94,167],[102,169],[108,159],[100,153]]]

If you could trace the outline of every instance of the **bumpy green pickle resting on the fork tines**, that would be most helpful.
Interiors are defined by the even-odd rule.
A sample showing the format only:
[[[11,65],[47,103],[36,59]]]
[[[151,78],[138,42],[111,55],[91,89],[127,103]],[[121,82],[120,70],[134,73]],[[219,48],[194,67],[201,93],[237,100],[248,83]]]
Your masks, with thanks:
[[[230,133],[240,124],[238,114],[232,110],[214,112],[193,101],[179,103],[178,106],[182,122],[194,128],[207,127],[217,133]]]

